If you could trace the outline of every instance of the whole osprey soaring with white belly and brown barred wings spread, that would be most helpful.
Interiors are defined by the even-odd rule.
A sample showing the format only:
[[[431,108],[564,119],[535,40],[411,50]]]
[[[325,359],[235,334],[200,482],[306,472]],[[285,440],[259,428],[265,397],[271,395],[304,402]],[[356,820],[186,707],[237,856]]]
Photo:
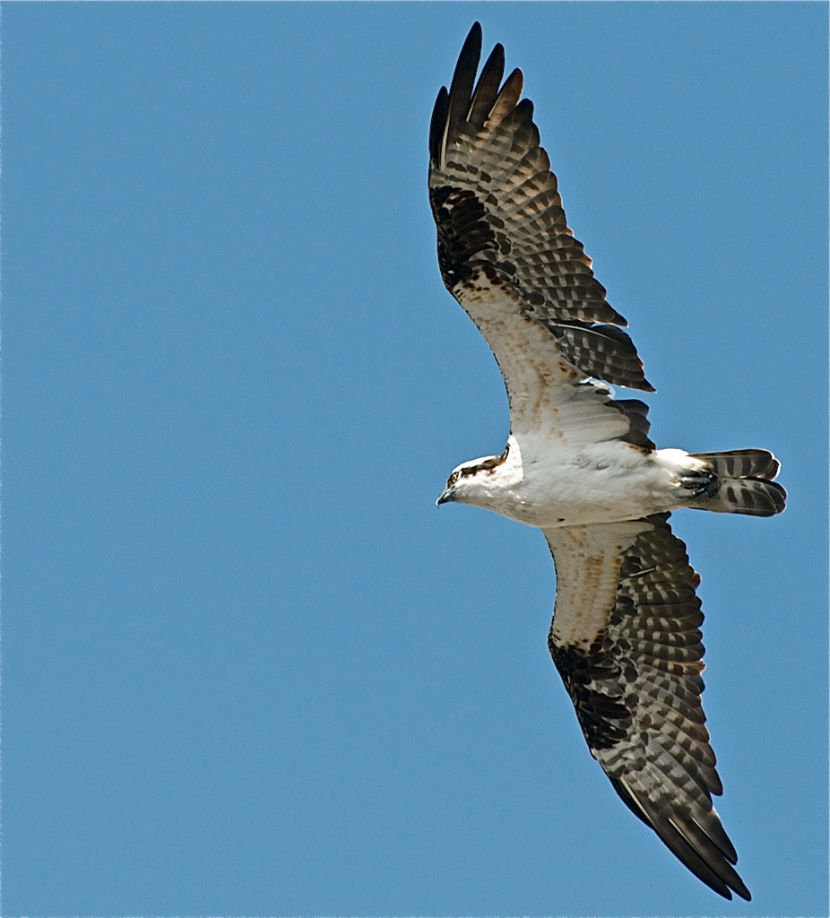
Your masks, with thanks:
[[[522,72],[497,44],[476,80],[465,40],[430,126],[430,203],[443,283],[488,341],[510,402],[504,452],[454,469],[438,504],[542,530],[554,556],[548,645],[591,755],[692,873],[748,900],[712,806],[723,793],[701,708],[700,577],[672,510],[773,516],[786,492],[766,450],[656,449],[655,391],[623,317],[566,225]]]

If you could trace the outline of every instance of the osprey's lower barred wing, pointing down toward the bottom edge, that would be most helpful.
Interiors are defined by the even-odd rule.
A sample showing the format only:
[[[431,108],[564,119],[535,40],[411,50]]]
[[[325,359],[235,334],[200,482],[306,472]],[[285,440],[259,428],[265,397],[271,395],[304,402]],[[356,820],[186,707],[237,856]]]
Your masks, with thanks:
[[[626,805],[712,890],[748,900],[712,807],[723,787],[701,707],[700,577],[667,517],[544,533],[556,567],[548,644]]]

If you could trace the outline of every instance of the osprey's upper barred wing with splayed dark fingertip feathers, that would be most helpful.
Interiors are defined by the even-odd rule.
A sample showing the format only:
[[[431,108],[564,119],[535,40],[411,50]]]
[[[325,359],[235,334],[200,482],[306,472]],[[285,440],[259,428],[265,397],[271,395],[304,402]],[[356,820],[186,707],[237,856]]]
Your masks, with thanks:
[[[496,45],[476,83],[481,27],[465,40],[430,128],[430,201],[443,282],[496,354],[511,417],[528,387],[586,377],[654,391],[623,317],[605,299],[566,225],[556,177],[539,145],[522,72],[502,84]],[[520,398],[521,400],[521,398]],[[515,420],[515,418],[514,418]]]

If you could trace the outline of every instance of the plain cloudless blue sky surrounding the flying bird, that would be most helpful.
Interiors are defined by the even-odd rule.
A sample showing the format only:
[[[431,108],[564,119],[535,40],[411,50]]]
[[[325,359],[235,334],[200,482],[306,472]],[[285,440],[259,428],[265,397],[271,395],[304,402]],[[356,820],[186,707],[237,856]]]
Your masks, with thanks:
[[[593,762],[538,532],[433,501],[506,398],[447,295],[432,102],[522,66],[679,513],[721,900]],[[5,915],[826,916],[827,8],[6,4]]]

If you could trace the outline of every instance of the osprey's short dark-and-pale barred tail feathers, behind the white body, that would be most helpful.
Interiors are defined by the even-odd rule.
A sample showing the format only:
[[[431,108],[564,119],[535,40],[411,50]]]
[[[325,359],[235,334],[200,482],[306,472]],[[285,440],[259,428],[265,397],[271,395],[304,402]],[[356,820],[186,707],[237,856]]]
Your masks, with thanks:
[[[732,450],[729,453],[691,453],[717,476],[720,487],[700,509],[716,513],[775,516],[784,509],[787,492],[772,479],[780,462],[767,450]]]

